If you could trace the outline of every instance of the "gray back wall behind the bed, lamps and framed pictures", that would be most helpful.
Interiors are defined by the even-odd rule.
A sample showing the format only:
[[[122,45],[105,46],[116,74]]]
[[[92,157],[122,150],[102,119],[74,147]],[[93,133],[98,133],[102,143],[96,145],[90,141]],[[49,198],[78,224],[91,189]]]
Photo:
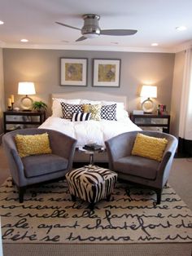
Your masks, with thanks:
[[[59,58],[88,58],[88,86],[59,86]],[[121,59],[120,88],[92,87],[93,58]],[[3,49],[5,99],[14,94],[19,104],[21,95],[17,95],[18,82],[35,82],[37,95],[33,99],[42,99],[50,105],[50,94],[73,90],[99,90],[116,95],[127,95],[129,111],[140,108],[139,92],[142,84],[151,82],[158,86],[156,104],[166,104],[171,108],[172,75],[174,54],[136,53],[109,51],[64,51],[64,50],[28,50]]]

